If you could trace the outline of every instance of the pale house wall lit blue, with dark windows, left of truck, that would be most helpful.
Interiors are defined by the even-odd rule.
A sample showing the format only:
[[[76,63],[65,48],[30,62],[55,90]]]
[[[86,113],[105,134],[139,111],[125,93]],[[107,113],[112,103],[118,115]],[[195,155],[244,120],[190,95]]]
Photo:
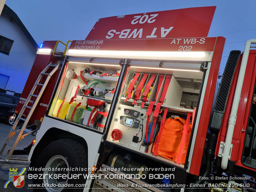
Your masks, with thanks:
[[[22,93],[38,45],[17,14],[4,5],[0,15],[0,88]]]

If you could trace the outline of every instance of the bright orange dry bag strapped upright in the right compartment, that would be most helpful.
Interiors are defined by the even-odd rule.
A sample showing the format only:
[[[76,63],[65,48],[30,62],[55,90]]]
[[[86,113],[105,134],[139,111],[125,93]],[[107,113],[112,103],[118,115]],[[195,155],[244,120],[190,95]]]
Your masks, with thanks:
[[[177,161],[181,139],[183,134],[184,125],[186,121],[182,118],[176,117],[175,119],[169,118],[164,123],[164,127],[162,129],[162,134],[160,135],[159,146],[157,150],[157,155],[164,157],[166,159],[172,160],[174,162]],[[191,124],[188,124],[187,134],[185,138],[184,148],[182,150],[180,163],[184,164],[187,155],[187,147],[189,145],[189,138],[191,134]],[[159,135],[157,135],[159,137]],[[156,139],[157,140],[157,139]],[[154,143],[152,152],[154,153],[156,147],[156,142]]]

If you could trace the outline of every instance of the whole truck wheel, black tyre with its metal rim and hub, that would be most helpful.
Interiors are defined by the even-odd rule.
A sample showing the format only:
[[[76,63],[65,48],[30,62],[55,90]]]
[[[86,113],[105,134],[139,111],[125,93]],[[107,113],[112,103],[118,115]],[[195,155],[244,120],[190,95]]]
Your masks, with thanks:
[[[70,191],[70,189],[67,189],[67,184],[74,185],[73,187],[70,186],[70,188],[73,188],[72,191],[82,191],[83,189],[74,188],[76,184],[85,184],[83,174],[87,174],[87,171],[80,171],[81,169],[75,170],[75,168],[87,168],[87,153],[80,143],[72,139],[55,140],[47,145],[44,150],[42,150],[41,154],[38,156],[35,167],[42,167],[45,168],[45,170],[42,170],[41,172],[34,172],[34,174],[68,175],[70,178],[64,178],[65,176],[63,178],[62,176],[57,176],[59,178],[53,178],[54,176],[52,176],[52,178],[46,176],[42,179],[33,180],[33,183],[35,184],[44,183],[46,191]],[[57,170],[53,168],[57,168]],[[66,168],[74,168],[74,170],[67,170]],[[74,177],[74,175],[77,174],[81,174],[79,178],[71,179],[72,175]]]

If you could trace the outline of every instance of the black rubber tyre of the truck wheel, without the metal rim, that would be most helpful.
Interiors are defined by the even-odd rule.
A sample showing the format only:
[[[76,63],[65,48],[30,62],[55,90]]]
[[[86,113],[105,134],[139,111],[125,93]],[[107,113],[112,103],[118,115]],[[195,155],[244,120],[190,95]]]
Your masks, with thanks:
[[[67,167],[65,164],[68,165],[68,167],[77,167],[77,168],[87,168],[87,152],[84,149],[84,147],[76,142],[75,140],[72,139],[59,139],[51,142],[49,145],[45,147],[44,150],[42,150],[41,154],[37,158],[37,162],[35,163],[35,167],[37,168],[44,168],[49,166],[49,167],[54,167],[56,164],[54,158],[57,158],[57,160],[63,161],[59,162],[58,167]],[[59,159],[58,159],[59,158]],[[64,158],[64,159],[62,159]],[[65,161],[66,160],[66,161]],[[65,162],[64,162],[65,161]],[[52,162],[52,164],[50,164]],[[53,165],[53,166],[52,166]],[[57,165],[56,165],[57,167]],[[46,172],[46,171],[41,171],[41,172],[33,172],[33,174],[68,174],[67,172]],[[70,171],[69,175],[72,174],[87,174],[87,171]],[[85,184],[85,179],[83,176],[80,176],[79,179],[68,179],[68,180],[47,180],[47,179],[35,179],[33,180],[34,184],[45,184],[45,183],[57,183],[57,184]],[[59,188],[59,187],[56,187]],[[71,187],[74,188],[74,187]],[[54,189],[37,189],[35,191],[58,191]],[[83,191],[83,189],[60,189],[59,191]],[[58,191],[58,192],[59,192]]]

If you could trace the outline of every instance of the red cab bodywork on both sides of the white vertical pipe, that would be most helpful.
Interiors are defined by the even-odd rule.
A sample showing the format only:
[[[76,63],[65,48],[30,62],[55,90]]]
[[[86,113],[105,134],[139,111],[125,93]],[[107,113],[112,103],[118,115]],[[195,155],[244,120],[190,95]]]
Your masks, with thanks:
[[[231,89],[229,92],[229,98],[226,105],[226,112],[223,116],[223,122],[221,125],[221,130],[218,137],[217,147],[215,150],[215,155],[218,156],[219,153],[219,146],[221,142],[225,142],[226,140],[226,133],[228,130],[228,121],[229,121],[229,114],[231,112],[232,108],[232,102],[234,99],[234,93],[236,89],[236,84],[238,80],[238,73],[241,65],[241,59],[242,56],[239,59],[238,66],[236,68],[236,72],[234,73],[233,77],[233,83],[231,84]],[[256,77],[256,50],[250,50],[248,62],[247,62],[247,68],[244,75],[244,82],[243,82],[243,88],[241,91],[241,98],[239,101],[238,106],[238,112],[237,112],[237,118],[236,118],[236,125],[234,127],[234,134],[232,139],[233,149],[231,152],[231,159],[234,161],[235,165],[238,165],[240,167],[250,169],[250,170],[256,170],[251,167],[243,165],[241,162],[242,154],[243,154],[243,147],[244,147],[244,140],[246,136],[246,129],[248,125],[248,119],[250,114],[250,108],[251,108],[251,102],[253,99],[253,92],[254,92],[254,86],[255,86],[255,77]],[[245,131],[243,131],[245,130]]]

